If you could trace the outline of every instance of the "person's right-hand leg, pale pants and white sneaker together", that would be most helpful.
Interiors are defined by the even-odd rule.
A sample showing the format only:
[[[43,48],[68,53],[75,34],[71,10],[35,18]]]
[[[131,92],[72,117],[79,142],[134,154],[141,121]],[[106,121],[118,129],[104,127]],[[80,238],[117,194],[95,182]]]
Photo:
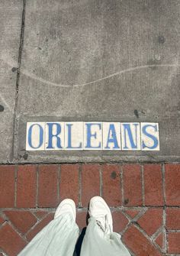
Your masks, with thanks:
[[[100,196],[89,203],[90,219],[82,242],[82,256],[130,256],[121,241],[121,235],[113,232],[111,211]]]

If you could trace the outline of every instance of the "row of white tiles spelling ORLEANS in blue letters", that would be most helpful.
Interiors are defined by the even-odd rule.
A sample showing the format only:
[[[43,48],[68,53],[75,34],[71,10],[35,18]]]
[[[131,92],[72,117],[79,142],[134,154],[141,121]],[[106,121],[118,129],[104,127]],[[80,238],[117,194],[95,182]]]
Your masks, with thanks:
[[[153,122],[27,122],[27,151],[159,151]]]

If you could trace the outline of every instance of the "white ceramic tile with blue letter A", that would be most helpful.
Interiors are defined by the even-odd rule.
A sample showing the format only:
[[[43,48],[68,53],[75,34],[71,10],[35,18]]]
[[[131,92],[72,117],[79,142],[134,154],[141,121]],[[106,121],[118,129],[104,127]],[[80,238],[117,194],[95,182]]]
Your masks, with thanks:
[[[121,151],[121,123],[103,122],[103,150]]]

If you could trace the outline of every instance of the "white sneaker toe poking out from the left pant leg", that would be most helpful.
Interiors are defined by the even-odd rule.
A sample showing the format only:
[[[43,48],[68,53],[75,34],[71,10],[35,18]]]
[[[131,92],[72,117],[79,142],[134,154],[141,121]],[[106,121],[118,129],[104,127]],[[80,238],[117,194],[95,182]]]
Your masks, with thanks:
[[[64,199],[56,209],[53,219],[59,217],[64,213],[71,213],[73,219],[76,221],[76,205],[72,199]]]

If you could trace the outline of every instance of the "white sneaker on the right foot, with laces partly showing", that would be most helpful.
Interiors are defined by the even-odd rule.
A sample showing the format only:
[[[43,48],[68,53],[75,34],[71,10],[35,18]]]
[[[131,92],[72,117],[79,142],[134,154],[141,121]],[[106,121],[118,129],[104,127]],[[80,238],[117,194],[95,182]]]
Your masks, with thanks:
[[[113,232],[113,221],[111,210],[101,196],[94,196],[89,202],[89,215],[94,217],[103,232],[110,234]]]

